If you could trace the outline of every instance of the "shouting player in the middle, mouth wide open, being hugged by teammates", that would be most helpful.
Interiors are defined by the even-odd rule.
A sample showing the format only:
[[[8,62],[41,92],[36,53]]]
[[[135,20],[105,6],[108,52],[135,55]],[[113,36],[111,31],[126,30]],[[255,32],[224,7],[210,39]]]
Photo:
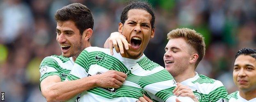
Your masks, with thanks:
[[[88,47],[81,52],[67,79],[101,75],[107,70],[126,73],[127,79],[120,88],[96,87],[84,91],[80,102],[135,102],[143,93],[154,100],[175,102],[176,96],[170,93],[176,86],[173,77],[143,54],[154,37],[154,21],[154,13],[147,3],[131,3],[123,9],[118,27],[131,45],[129,50],[123,54],[114,52],[114,56],[109,49],[98,47]],[[188,97],[179,99],[193,101]]]

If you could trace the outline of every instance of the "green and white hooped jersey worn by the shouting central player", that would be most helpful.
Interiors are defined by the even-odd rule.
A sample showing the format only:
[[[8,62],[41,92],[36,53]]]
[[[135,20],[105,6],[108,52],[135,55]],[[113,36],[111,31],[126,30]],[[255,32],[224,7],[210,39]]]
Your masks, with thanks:
[[[109,49],[88,47],[75,61],[68,80],[101,74],[107,70],[117,70],[127,74],[120,88],[95,87],[81,93],[80,102],[136,102],[142,94],[157,97],[153,101],[176,102],[172,91],[176,82],[162,66],[149,60],[145,55],[139,59],[128,59]],[[151,98],[152,98],[151,97]],[[188,97],[179,97],[183,102],[191,102]],[[187,101],[188,100],[188,101]]]

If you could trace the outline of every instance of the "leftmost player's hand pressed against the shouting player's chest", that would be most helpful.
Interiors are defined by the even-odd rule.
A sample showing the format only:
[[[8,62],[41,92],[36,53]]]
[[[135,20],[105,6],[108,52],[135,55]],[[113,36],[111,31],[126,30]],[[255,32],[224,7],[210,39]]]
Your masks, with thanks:
[[[127,75],[116,70],[108,70],[105,73],[95,75],[95,77],[97,79],[96,86],[103,88],[119,88],[122,86]]]

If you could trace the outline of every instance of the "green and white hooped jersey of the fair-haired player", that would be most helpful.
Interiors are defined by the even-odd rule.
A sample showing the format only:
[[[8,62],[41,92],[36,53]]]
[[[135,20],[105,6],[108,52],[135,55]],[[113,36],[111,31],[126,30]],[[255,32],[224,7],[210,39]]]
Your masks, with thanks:
[[[181,84],[191,88],[199,102],[229,102],[228,92],[222,82],[195,73],[194,77],[186,79]]]

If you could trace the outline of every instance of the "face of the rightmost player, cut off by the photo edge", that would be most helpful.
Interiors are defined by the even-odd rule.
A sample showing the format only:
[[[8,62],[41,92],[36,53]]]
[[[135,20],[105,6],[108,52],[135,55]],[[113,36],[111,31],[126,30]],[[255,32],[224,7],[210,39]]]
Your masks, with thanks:
[[[235,59],[233,80],[240,90],[256,90],[256,59],[240,55]]]

